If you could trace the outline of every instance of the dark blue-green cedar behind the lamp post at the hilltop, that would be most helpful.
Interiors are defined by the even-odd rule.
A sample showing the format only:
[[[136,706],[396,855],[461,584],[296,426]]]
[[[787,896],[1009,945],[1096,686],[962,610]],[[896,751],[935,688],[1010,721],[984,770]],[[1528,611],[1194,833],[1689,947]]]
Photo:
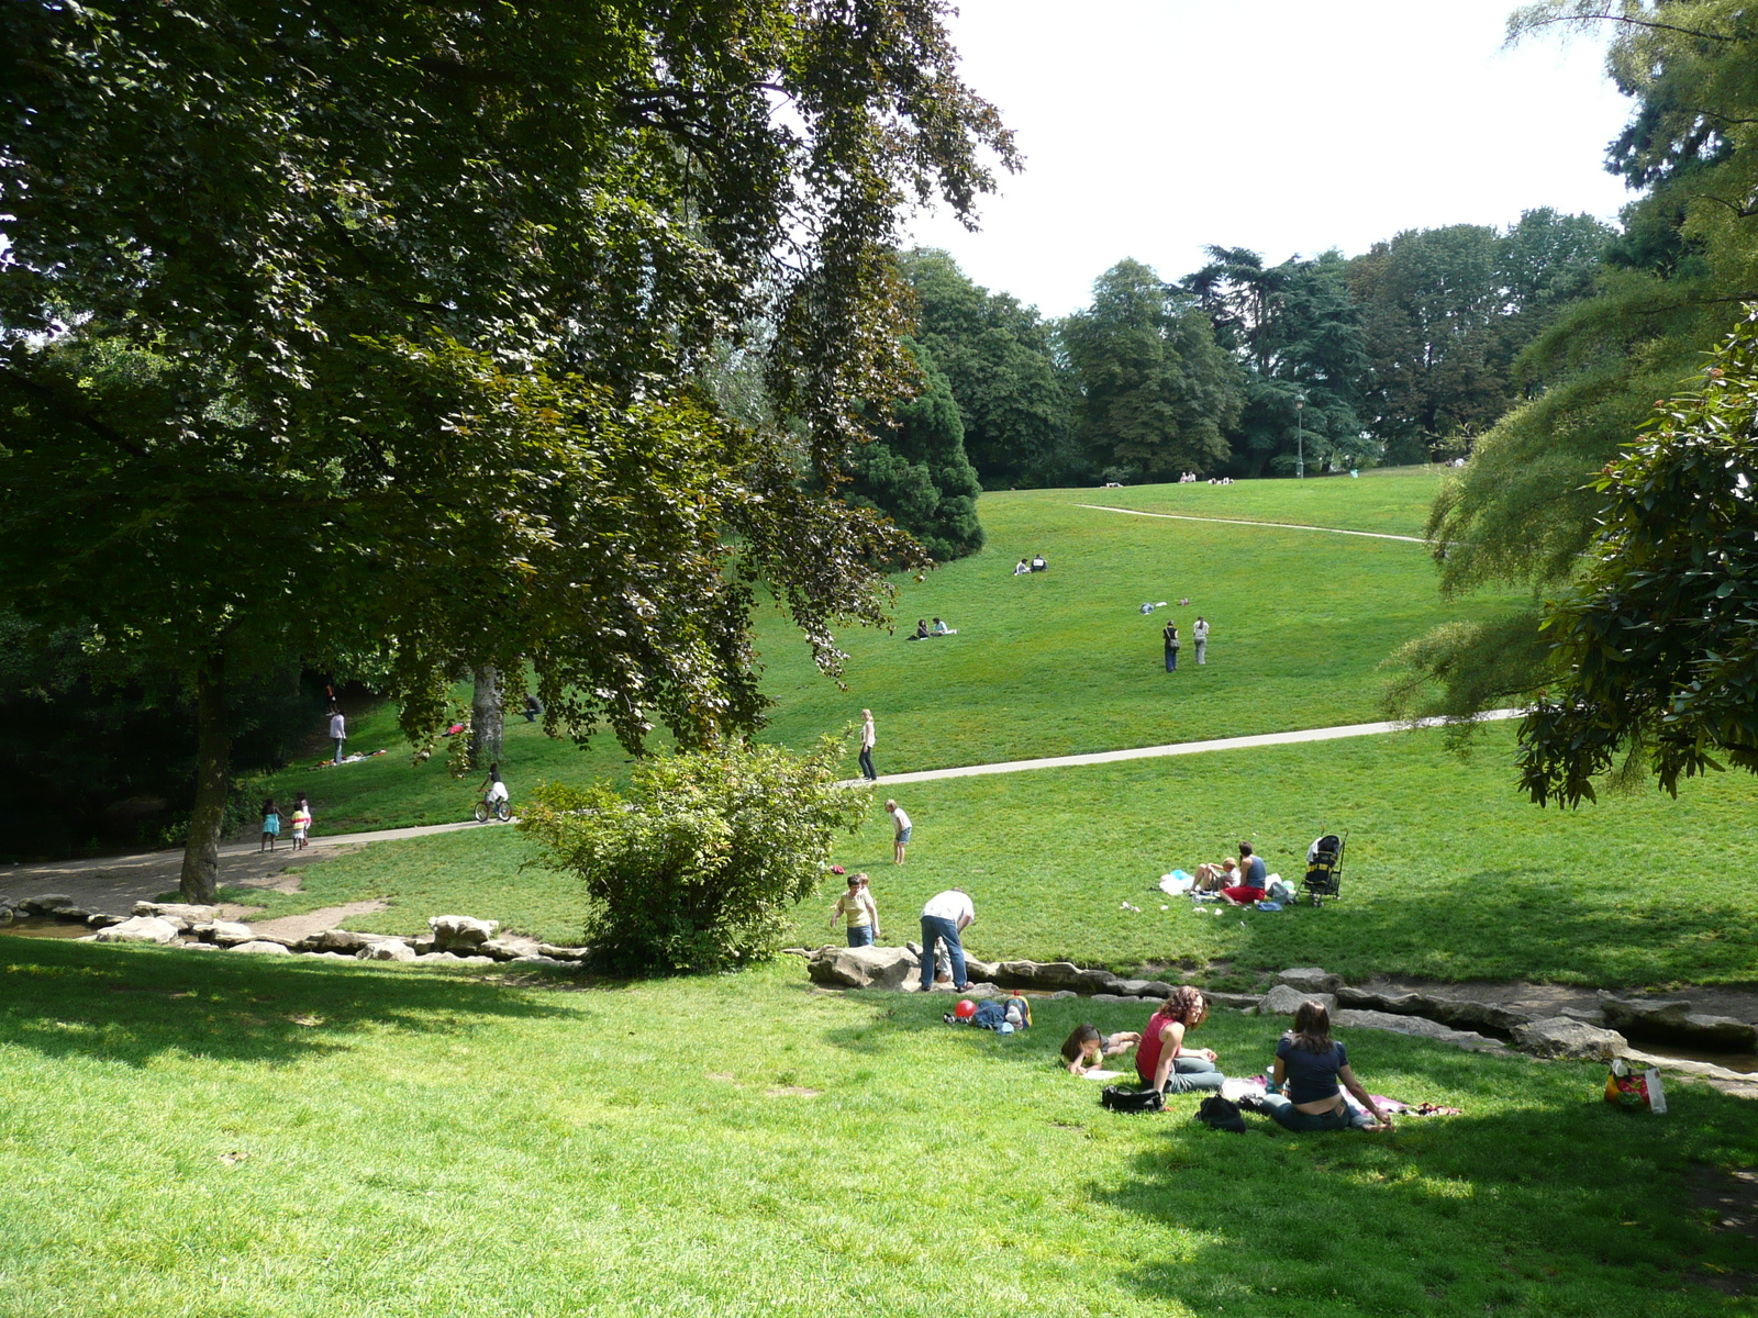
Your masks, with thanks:
[[[1208,253],[1180,286],[1245,373],[1245,404],[1227,436],[1236,469],[1292,474],[1303,455],[1315,471],[1373,466],[1378,445],[1359,420],[1369,364],[1343,258],[1327,251],[1266,267],[1245,248]]]

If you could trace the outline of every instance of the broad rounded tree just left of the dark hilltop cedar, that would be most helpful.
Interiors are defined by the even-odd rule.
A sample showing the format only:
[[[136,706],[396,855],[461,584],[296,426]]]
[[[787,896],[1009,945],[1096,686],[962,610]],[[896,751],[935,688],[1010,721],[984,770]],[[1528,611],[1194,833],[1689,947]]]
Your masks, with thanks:
[[[1141,262],[1118,262],[1093,283],[1092,306],[1062,323],[1062,339],[1095,466],[1153,478],[1225,462],[1239,369],[1195,299]]]

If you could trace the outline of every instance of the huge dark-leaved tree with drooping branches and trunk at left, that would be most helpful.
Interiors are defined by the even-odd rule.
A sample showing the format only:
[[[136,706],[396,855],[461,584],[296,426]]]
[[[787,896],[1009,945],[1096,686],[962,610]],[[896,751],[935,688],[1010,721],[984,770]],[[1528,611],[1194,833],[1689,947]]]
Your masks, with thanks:
[[[921,562],[837,490],[900,207],[1016,160],[935,0],[21,0],[0,51],[0,606],[193,691],[190,898],[251,671],[424,736],[529,657],[548,731],[700,745],[761,719],[759,576],[835,668]],[[774,427],[694,383],[758,320]]]

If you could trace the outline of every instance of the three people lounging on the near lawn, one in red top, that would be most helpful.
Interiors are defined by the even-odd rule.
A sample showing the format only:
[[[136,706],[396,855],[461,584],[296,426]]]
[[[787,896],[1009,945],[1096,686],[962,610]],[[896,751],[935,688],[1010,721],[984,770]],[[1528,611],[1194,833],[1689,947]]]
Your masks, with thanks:
[[[1146,1032],[1101,1035],[1083,1025],[1062,1044],[1062,1056],[1069,1072],[1079,1075],[1134,1046],[1143,1086],[1160,1093],[1218,1093],[1227,1077],[1215,1065],[1213,1049],[1185,1047],[1185,1035],[1206,1017],[1202,995],[1180,984],[1148,1019]],[[1364,1112],[1348,1105],[1345,1088]],[[1385,1130],[1392,1123],[1348,1068],[1343,1044],[1331,1039],[1331,1014],[1322,1002],[1303,1002],[1294,1028],[1276,1040],[1276,1065],[1259,1111],[1287,1130]]]

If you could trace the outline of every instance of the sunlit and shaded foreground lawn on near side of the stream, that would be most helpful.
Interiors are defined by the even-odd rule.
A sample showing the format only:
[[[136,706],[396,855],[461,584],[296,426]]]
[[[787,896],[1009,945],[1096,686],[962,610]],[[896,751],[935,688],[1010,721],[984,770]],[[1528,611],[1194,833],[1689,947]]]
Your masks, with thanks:
[[[587,991],[0,938],[0,1314],[1749,1313],[1747,1107],[1345,1035],[1396,1135],[1118,1118],[1030,1033],[789,963]],[[1199,1035],[1241,1074],[1278,1023]]]

